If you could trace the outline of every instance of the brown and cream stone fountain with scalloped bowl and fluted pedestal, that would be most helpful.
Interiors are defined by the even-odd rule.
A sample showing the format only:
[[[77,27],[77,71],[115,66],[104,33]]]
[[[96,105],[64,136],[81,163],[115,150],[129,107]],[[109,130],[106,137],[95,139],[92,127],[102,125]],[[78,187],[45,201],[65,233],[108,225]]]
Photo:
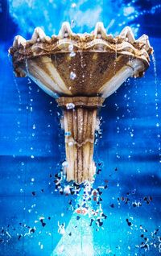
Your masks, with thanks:
[[[91,34],[74,34],[63,23],[52,38],[39,27],[30,40],[15,37],[10,55],[16,76],[31,77],[63,109],[68,181],[93,180],[97,109],[128,77],[144,74],[152,51],[147,35],[134,39],[125,27],[113,37],[103,23]]]

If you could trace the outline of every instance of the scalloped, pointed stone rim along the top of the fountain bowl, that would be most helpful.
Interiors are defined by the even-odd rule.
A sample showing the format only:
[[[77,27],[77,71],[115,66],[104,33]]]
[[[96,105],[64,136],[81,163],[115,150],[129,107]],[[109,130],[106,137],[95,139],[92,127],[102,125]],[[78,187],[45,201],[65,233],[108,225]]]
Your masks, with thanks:
[[[149,64],[149,56],[153,52],[147,35],[135,39],[131,28],[125,27],[118,36],[113,37],[106,33],[101,22],[96,24],[94,31],[90,34],[75,34],[72,32],[70,24],[65,22],[62,24],[59,34],[52,35],[52,37],[47,36],[40,27],[36,27],[29,40],[24,39],[21,35],[15,36],[13,47],[10,47],[9,52],[14,55],[14,52],[19,52],[19,49],[31,48],[33,56],[36,56],[39,49],[45,50],[45,45],[42,43],[52,45],[52,52],[72,52],[69,49],[71,44],[73,52],[80,50],[126,52],[136,58],[142,58],[147,64]],[[21,53],[19,52],[19,54]]]

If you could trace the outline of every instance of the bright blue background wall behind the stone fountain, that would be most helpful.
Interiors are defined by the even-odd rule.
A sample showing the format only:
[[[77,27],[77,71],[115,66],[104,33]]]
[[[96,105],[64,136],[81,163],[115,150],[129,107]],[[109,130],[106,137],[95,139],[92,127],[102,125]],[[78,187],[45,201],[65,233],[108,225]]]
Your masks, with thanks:
[[[108,180],[101,203],[107,219],[104,229],[91,229],[95,255],[159,255],[160,17],[161,2],[152,0],[0,1],[0,255],[50,255],[61,239],[57,221],[68,225],[73,214],[68,203],[76,196],[60,195],[54,184],[64,160],[60,109],[32,81],[14,77],[7,53],[14,35],[30,39],[36,26],[52,35],[66,20],[76,32],[102,21],[114,35],[129,25],[136,37],[150,36],[155,60],[145,76],[126,81],[101,109],[102,138],[95,147],[101,173],[93,186]],[[28,235],[29,227],[35,233]],[[149,247],[140,248],[142,242]]]

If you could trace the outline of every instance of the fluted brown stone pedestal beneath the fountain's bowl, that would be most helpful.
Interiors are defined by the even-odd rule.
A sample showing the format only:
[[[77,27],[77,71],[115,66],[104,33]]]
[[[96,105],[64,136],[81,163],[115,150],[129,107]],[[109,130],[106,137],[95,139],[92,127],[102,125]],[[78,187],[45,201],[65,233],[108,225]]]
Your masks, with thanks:
[[[97,126],[97,108],[102,97],[60,97],[57,102],[63,108],[65,150],[68,165],[67,180],[81,184],[92,181],[95,174],[93,162],[94,135]]]

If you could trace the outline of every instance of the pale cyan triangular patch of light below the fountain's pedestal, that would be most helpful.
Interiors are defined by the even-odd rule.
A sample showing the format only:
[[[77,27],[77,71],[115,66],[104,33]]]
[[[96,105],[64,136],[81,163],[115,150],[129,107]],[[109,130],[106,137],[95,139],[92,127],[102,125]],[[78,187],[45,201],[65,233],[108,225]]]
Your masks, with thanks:
[[[88,183],[84,189],[81,189],[81,192],[77,197],[76,206],[79,205],[81,213],[76,214],[78,213],[78,209],[77,211],[74,211],[66,229],[64,223],[58,223],[58,231],[62,235],[62,237],[60,239],[60,242],[57,244],[55,250],[53,250],[51,256],[94,255],[93,227],[89,225],[89,214],[86,214],[87,212],[84,213],[83,211],[83,205],[88,201],[89,189],[90,186]],[[92,211],[92,204],[88,202],[88,212]],[[64,232],[61,232],[61,229]]]

